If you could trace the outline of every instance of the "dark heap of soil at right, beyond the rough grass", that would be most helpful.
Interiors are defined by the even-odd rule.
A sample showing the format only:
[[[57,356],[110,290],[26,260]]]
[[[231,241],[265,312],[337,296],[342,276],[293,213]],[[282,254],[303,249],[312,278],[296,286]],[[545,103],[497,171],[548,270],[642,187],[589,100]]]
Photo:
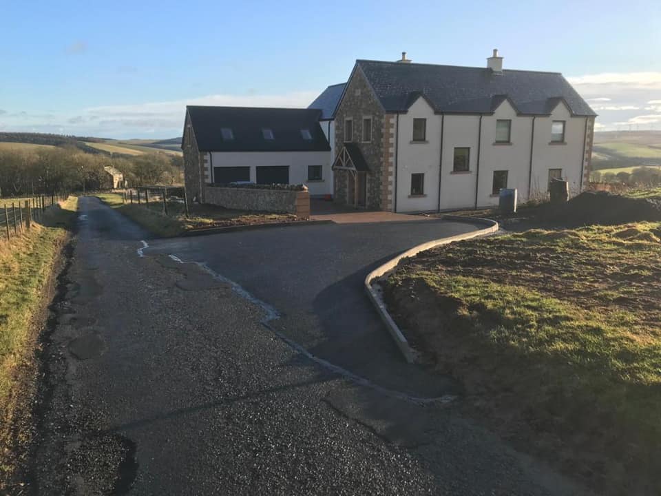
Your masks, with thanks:
[[[561,207],[549,209],[549,220],[563,225],[625,224],[661,220],[661,201],[607,192],[584,192]]]

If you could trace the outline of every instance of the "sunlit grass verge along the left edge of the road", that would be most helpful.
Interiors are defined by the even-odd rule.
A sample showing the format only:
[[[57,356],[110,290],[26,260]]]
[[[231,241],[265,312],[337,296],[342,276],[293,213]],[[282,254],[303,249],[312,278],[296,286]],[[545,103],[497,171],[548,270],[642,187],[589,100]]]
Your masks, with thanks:
[[[67,237],[67,228],[76,211],[77,198],[71,196],[59,207],[43,214],[41,224],[12,238],[0,241],[0,446],[10,450],[21,442],[10,437],[14,415],[29,406],[19,404],[23,395],[21,368],[29,369],[34,353],[39,322],[33,322],[41,310],[45,287],[59,250]],[[10,453],[10,452],[9,452]],[[8,453],[0,452],[0,461]],[[11,462],[11,459],[10,459]],[[11,466],[0,464],[0,484]]]

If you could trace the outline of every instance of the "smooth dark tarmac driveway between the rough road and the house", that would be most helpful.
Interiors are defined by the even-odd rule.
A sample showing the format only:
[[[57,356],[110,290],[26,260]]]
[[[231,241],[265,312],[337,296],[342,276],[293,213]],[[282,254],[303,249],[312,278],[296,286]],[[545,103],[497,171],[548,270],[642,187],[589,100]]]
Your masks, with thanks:
[[[273,307],[280,318],[271,326],[319,358],[390,389],[436,396],[455,385],[430,384],[403,361],[363,281],[410,247],[474,229],[429,218],[308,225],[154,240],[144,253],[203,262]]]

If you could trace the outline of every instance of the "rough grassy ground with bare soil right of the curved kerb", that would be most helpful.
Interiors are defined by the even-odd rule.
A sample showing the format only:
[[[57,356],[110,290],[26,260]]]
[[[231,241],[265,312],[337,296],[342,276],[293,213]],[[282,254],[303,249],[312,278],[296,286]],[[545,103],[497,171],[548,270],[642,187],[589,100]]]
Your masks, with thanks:
[[[404,260],[388,308],[465,408],[598,493],[661,488],[661,223],[532,229]]]

